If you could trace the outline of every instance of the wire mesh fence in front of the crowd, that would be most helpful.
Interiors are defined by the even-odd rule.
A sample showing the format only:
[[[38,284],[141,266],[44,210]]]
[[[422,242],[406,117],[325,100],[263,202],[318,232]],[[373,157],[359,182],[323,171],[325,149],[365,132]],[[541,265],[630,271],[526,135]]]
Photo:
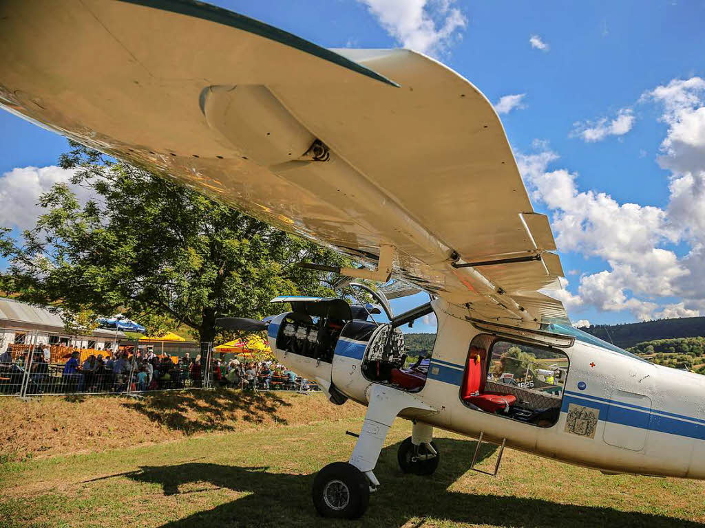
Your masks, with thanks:
[[[18,336],[20,338],[18,339]],[[106,350],[50,344],[49,333],[0,329],[0,396],[44,394],[141,394],[147,391],[211,389],[315,391],[314,382],[293,373],[253,366],[232,375],[215,358],[213,344],[182,346],[179,356],[154,353],[138,340],[116,342]],[[12,341],[12,342],[10,342]],[[159,348],[157,348],[159,349]]]

